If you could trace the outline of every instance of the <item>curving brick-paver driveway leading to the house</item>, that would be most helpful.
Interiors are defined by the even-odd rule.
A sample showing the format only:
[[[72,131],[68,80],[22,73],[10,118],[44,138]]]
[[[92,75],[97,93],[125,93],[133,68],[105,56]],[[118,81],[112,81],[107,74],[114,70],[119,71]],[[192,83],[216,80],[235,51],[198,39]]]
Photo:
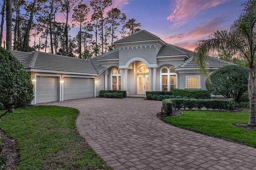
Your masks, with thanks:
[[[256,149],[160,121],[162,102],[88,98],[48,103],[74,107],[86,142],[115,170],[256,170]]]

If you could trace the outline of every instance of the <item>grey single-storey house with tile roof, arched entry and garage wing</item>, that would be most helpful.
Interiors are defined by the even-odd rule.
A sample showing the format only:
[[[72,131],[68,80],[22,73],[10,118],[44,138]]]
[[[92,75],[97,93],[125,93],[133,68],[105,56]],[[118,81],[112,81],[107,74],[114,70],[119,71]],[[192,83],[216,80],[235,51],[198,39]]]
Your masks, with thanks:
[[[117,49],[84,60],[33,51],[12,51],[34,83],[32,104],[97,97],[100,90],[129,95],[170,89],[206,89],[206,77],[192,63],[194,52],[165,43],[142,30],[115,42]],[[227,61],[208,57],[209,73]]]

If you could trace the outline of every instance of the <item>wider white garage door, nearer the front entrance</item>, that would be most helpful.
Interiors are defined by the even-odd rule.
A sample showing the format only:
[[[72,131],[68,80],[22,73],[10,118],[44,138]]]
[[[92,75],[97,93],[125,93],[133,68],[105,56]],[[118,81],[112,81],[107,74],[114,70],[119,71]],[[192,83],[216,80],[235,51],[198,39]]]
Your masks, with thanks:
[[[93,97],[93,80],[90,78],[65,77],[64,100]]]

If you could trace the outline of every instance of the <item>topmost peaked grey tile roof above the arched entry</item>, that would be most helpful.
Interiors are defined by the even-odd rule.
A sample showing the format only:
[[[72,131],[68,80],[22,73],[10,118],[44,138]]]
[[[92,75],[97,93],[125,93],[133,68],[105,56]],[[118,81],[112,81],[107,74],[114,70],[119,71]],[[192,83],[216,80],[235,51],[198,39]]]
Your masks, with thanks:
[[[120,40],[114,42],[115,44],[118,43],[131,43],[131,42],[140,42],[140,41],[149,41],[149,40],[161,40],[158,36],[147,32],[146,30],[141,30],[136,32],[130,36],[124,37]]]

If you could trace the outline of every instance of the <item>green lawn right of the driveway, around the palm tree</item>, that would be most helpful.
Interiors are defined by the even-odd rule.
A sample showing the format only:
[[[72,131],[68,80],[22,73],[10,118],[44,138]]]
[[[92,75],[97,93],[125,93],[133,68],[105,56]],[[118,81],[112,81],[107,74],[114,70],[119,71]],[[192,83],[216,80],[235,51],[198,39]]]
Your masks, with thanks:
[[[232,123],[247,124],[249,109],[242,109],[240,112],[183,111],[183,113],[181,116],[166,118],[164,121],[176,127],[256,147],[256,131],[244,130],[232,125]]]

